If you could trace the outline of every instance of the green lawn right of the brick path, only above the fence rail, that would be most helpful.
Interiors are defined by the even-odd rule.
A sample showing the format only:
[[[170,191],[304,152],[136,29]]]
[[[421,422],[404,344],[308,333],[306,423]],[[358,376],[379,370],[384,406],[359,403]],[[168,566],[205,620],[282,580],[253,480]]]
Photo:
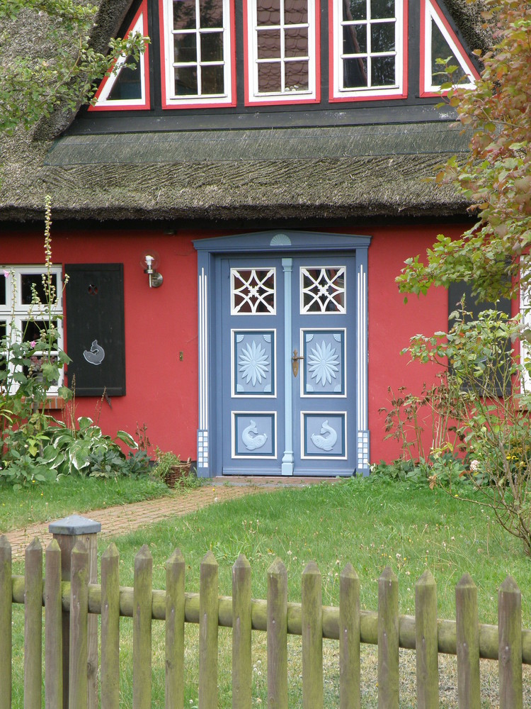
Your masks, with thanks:
[[[253,569],[253,597],[265,598],[265,571],[276,557],[287,567],[289,601],[299,600],[300,576],[319,564],[323,603],[338,603],[339,573],[347,562],[360,576],[362,606],[376,610],[377,578],[385,566],[399,579],[401,613],[413,613],[414,585],[430,569],[438,585],[439,613],[455,618],[454,588],[465,571],[478,586],[479,612],[497,622],[497,589],[508,574],[524,599],[531,597],[530,559],[489,518],[489,510],[442,490],[351,479],[284,489],[210,506],[114,540],[120,583],[132,585],[135,553],[149,545],[154,588],[164,588],[164,562],[176,547],[187,562],[187,591],[199,588],[199,565],[208,549],[219,562],[219,592],[231,595],[231,567],[244,553]],[[108,540],[101,541],[101,549]],[[531,627],[531,605],[523,603]]]

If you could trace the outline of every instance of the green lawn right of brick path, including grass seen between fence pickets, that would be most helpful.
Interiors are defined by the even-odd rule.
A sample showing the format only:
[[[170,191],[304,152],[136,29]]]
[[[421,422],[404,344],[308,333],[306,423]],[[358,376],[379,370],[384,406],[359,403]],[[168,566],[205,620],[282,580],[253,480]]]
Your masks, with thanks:
[[[43,488],[43,490],[45,490]],[[59,516],[59,513],[56,515]],[[300,601],[301,574],[313,559],[322,575],[323,603],[337,605],[339,574],[351,562],[360,576],[362,608],[377,610],[377,579],[389,564],[399,579],[400,612],[414,613],[415,583],[430,569],[438,588],[440,618],[455,618],[455,585],[468,571],[478,586],[479,620],[497,624],[498,586],[507,574],[523,593],[523,625],[531,627],[530,559],[520,542],[498,529],[489,511],[448,496],[444,491],[377,479],[351,479],[337,484],[282,489],[214,504],[182,518],[171,518],[116,537],[120,552],[120,584],[132,586],[135,554],[147,544],[154,557],[154,588],[164,588],[164,562],[180,548],[187,562],[186,590],[198,592],[200,561],[212,549],[219,562],[219,593],[230,596],[231,567],[240,552],[253,570],[253,598],[265,598],[268,566],[280,557],[287,566],[289,601]],[[101,540],[102,554],[110,540]],[[18,569],[18,572],[20,570]],[[13,616],[13,642],[23,644],[23,607]],[[132,622],[121,620],[120,708],[131,707]],[[15,640],[15,638],[18,640]],[[186,700],[193,708],[198,697],[198,627],[186,627]],[[253,706],[267,704],[265,633],[253,633]],[[300,638],[289,639],[290,707],[300,706]],[[376,650],[363,647],[362,705],[377,706]],[[219,707],[231,706],[231,633],[219,630]],[[497,664],[482,669],[484,708],[497,706]],[[153,626],[152,707],[164,707],[164,623]],[[415,660],[401,653],[400,707],[416,705]],[[18,666],[18,663],[17,663]],[[338,705],[338,650],[324,642],[325,705]],[[457,706],[455,658],[440,656],[440,706]],[[22,699],[21,669],[16,669],[13,700]],[[529,668],[526,683],[531,687]],[[525,703],[531,701],[527,692]],[[16,704],[18,705],[18,704]]]

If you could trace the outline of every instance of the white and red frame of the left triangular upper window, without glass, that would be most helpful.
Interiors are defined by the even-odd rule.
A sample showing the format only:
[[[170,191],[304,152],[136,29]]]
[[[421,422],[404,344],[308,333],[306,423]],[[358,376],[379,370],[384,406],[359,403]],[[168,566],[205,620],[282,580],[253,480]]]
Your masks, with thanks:
[[[142,37],[147,36],[147,0],[144,0],[140,5],[135,18],[131,23],[127,36],[130,34],[141,33]],[[140,69],[140,91],[139,99],[109,99],[110,92],[120,76],[122,67],[125,64],[127,57],[120,55],[113,67],[113,73],[105,77],[98,87],[98,91],[94,98],[96,103],[89,106],[89,111],[127,111],[130,108],[135,110],[148,109],[149,103],[149,45],[145,45],[145,50],[139,56],[138,65]]]

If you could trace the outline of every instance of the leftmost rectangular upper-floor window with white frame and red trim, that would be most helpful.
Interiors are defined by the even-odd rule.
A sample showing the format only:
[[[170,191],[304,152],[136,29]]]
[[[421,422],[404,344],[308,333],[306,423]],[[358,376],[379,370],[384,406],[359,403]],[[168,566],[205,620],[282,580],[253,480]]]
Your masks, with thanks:
[[[160,0],[163,108],[236,105],[234,0]]]

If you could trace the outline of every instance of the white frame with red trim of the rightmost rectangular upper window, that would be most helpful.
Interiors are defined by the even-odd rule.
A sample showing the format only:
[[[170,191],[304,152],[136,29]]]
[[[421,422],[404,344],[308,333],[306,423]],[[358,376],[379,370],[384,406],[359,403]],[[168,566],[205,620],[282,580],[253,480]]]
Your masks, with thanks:
[[[396,0],[395,6],[395,82],[392,86],[343,87],[343,0],[329,0],[331,11],[330,101],[367,101],[374,99],[404,99],[407,96],[407,8],[408,0]],[[367,0],[367,19],[370,23],[370,0]],[[362,24],[361,22],[359,24]],[[367,52],[367,74],[370,77],[370,58],[389,56],[390,52]]]

